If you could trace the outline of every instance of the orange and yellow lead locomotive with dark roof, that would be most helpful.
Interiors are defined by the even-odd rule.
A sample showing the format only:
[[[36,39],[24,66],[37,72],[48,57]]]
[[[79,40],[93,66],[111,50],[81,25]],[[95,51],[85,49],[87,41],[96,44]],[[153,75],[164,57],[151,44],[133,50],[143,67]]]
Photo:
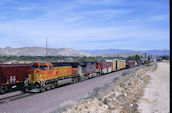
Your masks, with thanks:
[[[72,65],[53,67],[53,64],[47,62],[35,63],[24,81],[25,91],[41,92],[66,82],[77,82],[77,72],[78,68]]]

